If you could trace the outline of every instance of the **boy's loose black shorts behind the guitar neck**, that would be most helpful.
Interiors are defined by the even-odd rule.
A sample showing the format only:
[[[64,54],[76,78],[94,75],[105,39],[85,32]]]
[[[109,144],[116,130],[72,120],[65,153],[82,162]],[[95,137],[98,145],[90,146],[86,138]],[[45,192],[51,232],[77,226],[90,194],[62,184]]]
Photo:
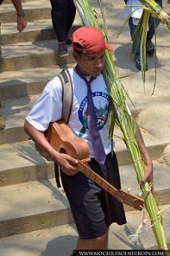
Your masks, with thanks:
[[[105,161],[105,166],[94,158],[89,167],[105,178],[117,189],[121,188],[117,158],[113,152]],[[97,238],[108,229],[113,222],[126,223],[123,204],[100,186],[87,178],[81,171],[68,176],[61,171],[61,181],[69,200],[73,218],[76,222],[80,238]]]

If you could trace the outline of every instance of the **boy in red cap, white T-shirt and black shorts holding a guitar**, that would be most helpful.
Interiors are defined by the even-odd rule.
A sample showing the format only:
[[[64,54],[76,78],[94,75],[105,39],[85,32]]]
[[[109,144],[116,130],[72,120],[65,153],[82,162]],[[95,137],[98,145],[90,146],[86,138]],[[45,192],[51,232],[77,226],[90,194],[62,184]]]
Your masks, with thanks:
[[[109,142],[107,122],[109,95],[101,74],[105,65],[105,49],[113,50],[113,47],[105,43],[103,34],[97,28],[83,26],[73,33],[73,57],[77,66],[69,69],[73,80],[73,107],[69,118],[69,127],[77,136],[89,143],[89,157],[91,158],[88,163],[89,167],[120,189],[117,158],[114,152],[111,154]],[[92,80],[91,83],[90,80]],[[97,159],[97,147],[93,146],[92,138],[92,135],[95,134],[90,134],[89,131],[90,113],[87,106],[89,104],[87,98],[89,85],[97,114],[98,132],[105,151],[103,159]],[[86,178],[84,174],[78,172],[76,159],[58,153],[46,141],[43,132],[48,128],[49,122],[61,119],[61,97],[61,82],[56,77],[47,84],[38,102],[26,117],[25,130],[34,142],[42,146],[53,158],[53,161],[61,167],[62,185],[79,234],[77,250],[105,250],[108,248],[109,225],[113,222],[117,222],[119,225],[125,224],[125,212],[121,202]],[[88,126],[86,125],[87,118]],[[152,161],[139,130],[137,130],[137,134],[141,154],[144,156],[146,164],[145,177],[141,182],[146,180],[150,182]]]

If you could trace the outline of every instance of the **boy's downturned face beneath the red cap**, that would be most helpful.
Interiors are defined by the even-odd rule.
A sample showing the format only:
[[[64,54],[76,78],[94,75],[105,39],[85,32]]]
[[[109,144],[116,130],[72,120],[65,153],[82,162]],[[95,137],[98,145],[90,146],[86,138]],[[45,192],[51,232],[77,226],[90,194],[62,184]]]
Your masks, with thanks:
[[[105,50],[95,54],[73,52],[73,57],[85,76],[97,77],[105,65]]]

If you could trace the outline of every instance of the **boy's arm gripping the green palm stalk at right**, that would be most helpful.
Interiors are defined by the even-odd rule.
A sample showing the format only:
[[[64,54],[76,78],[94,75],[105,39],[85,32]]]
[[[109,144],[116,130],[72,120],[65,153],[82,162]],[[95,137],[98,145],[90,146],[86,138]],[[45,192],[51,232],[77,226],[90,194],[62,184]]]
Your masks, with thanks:
[[[142,134],[140,132],[139,126],[136,124],[136,138],[137,142],[140,148],[140,154],[142,155],[142,158],[144,159],[144,178],[140,180],[141,183],[148,182],[151,183],[153,182],[153,164],[152,164],[152,159],[150,155],[148,154],[148,149],[144,145],[144,140],[142,138]]]

